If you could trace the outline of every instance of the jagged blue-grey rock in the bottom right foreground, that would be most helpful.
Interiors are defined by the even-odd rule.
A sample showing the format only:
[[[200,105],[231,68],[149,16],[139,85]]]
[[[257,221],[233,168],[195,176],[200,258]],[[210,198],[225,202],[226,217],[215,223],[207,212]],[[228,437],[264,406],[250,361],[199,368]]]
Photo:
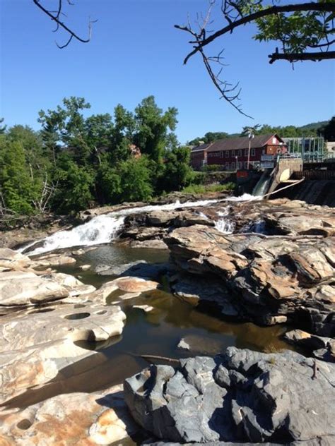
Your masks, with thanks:
[[[229,347],[216,358],[181,359],[179,368],[146,368],[124,382],[124,398],[134,420],[165,442],[328,444],[334,373],[334,364],[290,351]]]

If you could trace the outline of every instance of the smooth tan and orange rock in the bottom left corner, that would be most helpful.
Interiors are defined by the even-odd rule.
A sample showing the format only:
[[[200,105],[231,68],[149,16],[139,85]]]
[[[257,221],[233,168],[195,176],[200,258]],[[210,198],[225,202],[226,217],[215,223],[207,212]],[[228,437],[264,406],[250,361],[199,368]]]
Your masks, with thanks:
[[[139,431],[121,385],[92,394],[60,394],[3,418],[1,445],[110,445]]]

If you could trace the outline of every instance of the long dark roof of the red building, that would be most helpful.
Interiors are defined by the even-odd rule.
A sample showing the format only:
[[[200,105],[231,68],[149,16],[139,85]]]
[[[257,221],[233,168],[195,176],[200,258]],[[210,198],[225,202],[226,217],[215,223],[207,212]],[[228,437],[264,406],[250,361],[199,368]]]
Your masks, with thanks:
[[[276,136],[278,140],[283,143],[283,140],[279,138],[276,133],[268,133],[267,135],[257,135],[251,140],[250,147],[256,149],[257,147],[264,147],[268,141]],[[201,144],[192,148],[192,152],[200,152],[201,150],[207,150],[207,152],[218,152],[220,150],[241,150],[249,147],[249,138],[242,136],[240,138],[225,138],[221,140],[213,141],[213,143]]]

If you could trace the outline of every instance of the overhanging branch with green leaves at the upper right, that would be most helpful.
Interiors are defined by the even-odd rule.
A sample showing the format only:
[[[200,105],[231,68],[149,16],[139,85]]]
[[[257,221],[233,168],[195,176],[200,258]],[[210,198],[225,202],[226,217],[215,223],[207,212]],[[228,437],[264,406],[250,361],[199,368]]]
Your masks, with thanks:
[[[213,10],[221,7],[223,25],[213,29],[211,16]],[[235,29],[254,23],[257,26],[255,40],[274,40],[281,45],[269,54],[269,62],[278,60],[290,63],[296,61],[322,61],[334,59],[334,0],[319,0],[315,2],[293,4],[273,4],[266,0],[209,0],[209,8],[201,23],[196,21],[196,27],[175,25],[192,36],[190,44],[193,49],[184,59],[184,64],[194,56],[200,54],[204,66],[221,97],[245,114],[240,107],[240,89],[238,83],[232,85],[221,77],[223,72],[223,50],[216,56],[208,56],[206,48],[214,41],[231,34]],[[312,51],[310,51],[312,49]],[[221,68],[216,73],[214,65]],[[248,116],[245,114],[245,116]],[[250,117],[250,116],[249,116]]]

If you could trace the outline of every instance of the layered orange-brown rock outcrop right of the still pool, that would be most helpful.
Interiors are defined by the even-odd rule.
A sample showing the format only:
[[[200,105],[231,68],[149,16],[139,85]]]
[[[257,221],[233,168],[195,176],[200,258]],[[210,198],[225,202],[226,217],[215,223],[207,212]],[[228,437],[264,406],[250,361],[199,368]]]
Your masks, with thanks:
[[[175,229],[165,243],[178,268],[207,276],[208,287],[211,277],[220,279],[219,305],[230,296],[241,315],[259,323],[276,323],[278,316],[285,322],[288,316],[312,332],[334,336],[334,237],[223,235],[194,225]]]

